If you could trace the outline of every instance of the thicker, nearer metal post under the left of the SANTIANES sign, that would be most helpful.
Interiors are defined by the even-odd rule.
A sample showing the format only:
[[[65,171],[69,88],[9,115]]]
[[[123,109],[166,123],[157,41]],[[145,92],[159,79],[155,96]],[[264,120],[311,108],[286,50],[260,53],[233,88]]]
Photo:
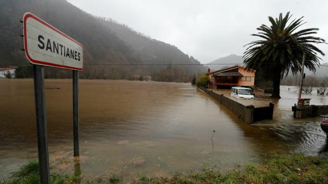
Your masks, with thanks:
[[[33,65],[40,182],[50,183],[44,66]]]

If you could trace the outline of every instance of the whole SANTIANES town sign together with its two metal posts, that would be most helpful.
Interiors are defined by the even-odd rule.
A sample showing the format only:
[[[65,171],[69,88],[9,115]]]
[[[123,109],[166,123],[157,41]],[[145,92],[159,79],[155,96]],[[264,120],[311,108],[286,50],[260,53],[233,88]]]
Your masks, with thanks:
[[[83,45],[46,21],[26,12],[23,15],[24,51],[33,64],[37,145],[40,182],[50,183],[44,66],[73,70],[74,156],[79,156],[78,71],[83,71]]]

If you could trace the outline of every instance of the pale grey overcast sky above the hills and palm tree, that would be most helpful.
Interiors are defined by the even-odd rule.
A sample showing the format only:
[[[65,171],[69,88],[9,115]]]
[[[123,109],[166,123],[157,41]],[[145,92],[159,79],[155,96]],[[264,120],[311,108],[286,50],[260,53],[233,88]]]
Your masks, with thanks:
[[[304,16],[302,28],[319,28],[328,40],[328,1],[211,1],[211,0],[68,0],[97,16],[113,18],[137,32],[175,45],[182,52],[208,63],[230,54],[242,55],[244,44],[257,39],[268,16],[290,11]],[[328,55],[328,45],[319,45]],[[328,57],[322,58],[328,62]]]

